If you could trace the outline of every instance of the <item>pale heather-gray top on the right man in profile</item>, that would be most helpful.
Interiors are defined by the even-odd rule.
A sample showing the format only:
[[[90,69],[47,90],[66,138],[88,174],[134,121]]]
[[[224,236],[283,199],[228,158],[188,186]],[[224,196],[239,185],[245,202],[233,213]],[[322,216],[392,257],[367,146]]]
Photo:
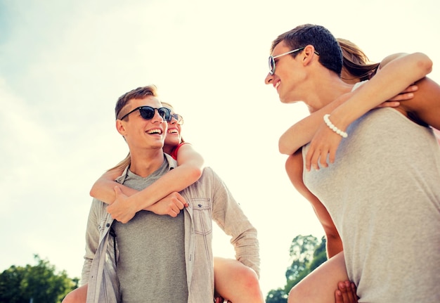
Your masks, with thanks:
[[[440,302],[440,148],[432,129],[380,108],[347,133],[335,162],[305,172],[304,183],[335,222],[359,302]]]

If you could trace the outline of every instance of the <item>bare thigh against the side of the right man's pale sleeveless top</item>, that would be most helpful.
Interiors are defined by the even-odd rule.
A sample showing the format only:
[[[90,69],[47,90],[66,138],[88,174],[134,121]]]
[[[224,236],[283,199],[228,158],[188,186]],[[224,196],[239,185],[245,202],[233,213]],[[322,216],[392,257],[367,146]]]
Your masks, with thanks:
[[[295,285],[287,303],[334,303],[339,281],[348,280],[344,252],[339,252]]]

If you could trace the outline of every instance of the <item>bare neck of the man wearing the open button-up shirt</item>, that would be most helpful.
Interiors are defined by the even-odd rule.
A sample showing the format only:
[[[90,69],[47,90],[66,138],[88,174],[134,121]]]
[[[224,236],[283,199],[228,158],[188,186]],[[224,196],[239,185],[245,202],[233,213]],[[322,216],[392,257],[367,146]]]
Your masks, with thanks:
[[[130,170],[138,176],[146,177],[153,174],[164,162],[164,152],[162,148],[157,150],[143,151],[142,153],[132,153]]]

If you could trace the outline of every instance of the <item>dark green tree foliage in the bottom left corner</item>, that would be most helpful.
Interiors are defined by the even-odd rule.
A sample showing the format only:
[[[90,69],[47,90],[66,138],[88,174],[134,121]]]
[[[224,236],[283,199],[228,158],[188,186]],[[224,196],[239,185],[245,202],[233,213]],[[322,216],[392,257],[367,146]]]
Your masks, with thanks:
[[[34,259],[37,265],[13,265],[0,273],[0,303],[57,303],[77,288],[78,278],[56,273],[55,266],[37,254]]]

